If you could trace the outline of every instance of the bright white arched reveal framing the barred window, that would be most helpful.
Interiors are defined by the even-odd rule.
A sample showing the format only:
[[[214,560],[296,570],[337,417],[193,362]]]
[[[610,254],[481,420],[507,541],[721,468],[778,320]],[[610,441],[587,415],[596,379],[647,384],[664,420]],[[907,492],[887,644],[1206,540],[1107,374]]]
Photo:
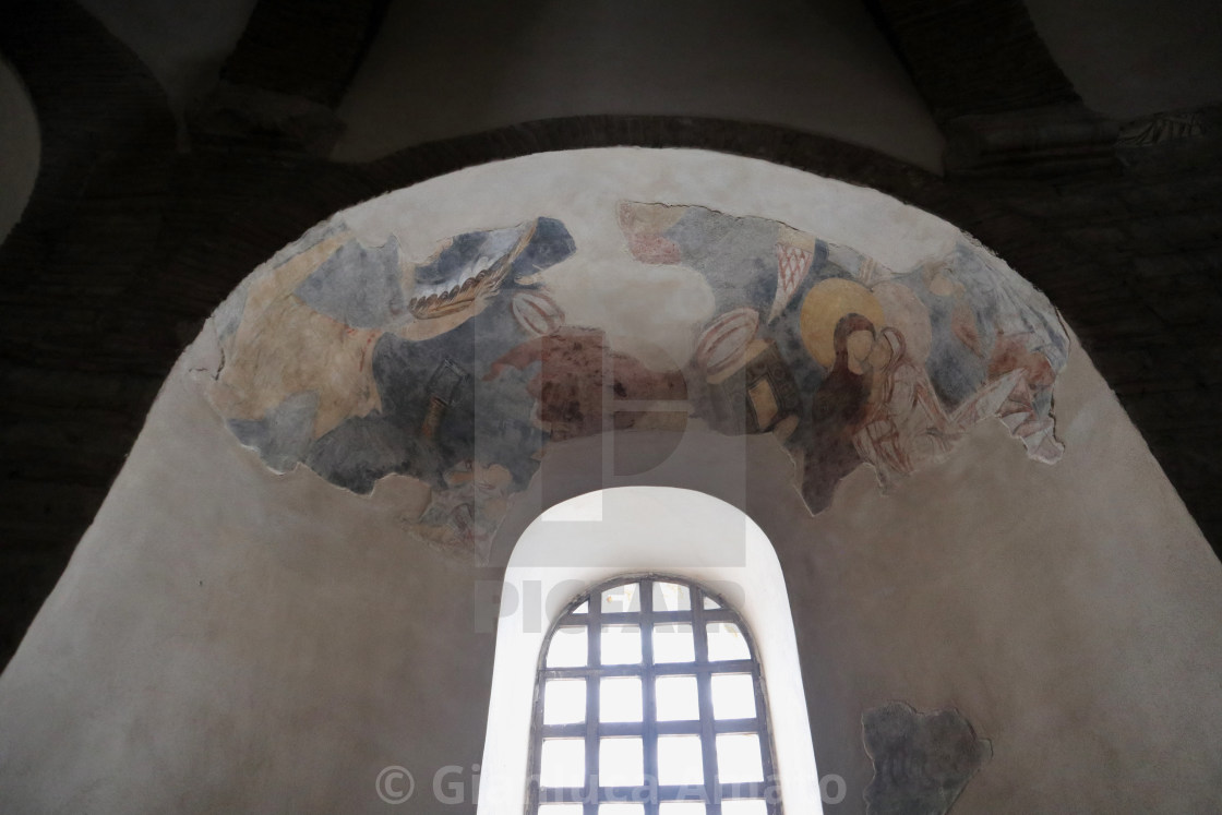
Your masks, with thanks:
[[[694,490],[627,486],[552,506],[505,571],[480,815],[519,815],[540,648],[576,596],[622,574],[688,578],[719,591],[755,637],[786,811],[821,813],[802,665],[781,562],[741,510]]]

